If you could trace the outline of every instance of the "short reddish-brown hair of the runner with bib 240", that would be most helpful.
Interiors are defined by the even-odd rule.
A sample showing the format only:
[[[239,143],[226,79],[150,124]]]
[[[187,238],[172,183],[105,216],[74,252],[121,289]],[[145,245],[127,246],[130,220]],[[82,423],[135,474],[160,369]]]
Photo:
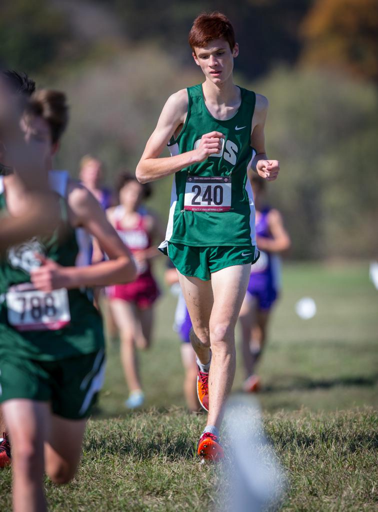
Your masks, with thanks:
[[[193,22],[189,32],[189,44],[192,50],[194,47],[203,48],[213,39],[225,39],[231,50],[236,45],[234,28],[230,20],[221,12],[204,12],[199,14]]]

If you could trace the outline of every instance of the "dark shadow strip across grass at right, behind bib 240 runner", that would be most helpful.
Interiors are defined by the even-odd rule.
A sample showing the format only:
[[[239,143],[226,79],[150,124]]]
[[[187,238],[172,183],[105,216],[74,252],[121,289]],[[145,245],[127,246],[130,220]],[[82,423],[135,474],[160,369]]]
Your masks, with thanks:
[[[261,393],[277,393],[295,390],[330,389],[337,386],[362,386],[373,387],[378,382],[378,374],[370,377],[338,377],[334,379],[311,379],[303,376],[293,376],[293,382],[289,384],[272,383],[264,386]]]

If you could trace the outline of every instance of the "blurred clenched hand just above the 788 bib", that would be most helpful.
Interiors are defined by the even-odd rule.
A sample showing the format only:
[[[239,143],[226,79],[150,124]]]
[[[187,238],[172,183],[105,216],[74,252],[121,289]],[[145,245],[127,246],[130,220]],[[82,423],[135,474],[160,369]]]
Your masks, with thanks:
[[[42,264],[30,272],[30,280],[37,290],[49,292],[59,288],[71,288],[68,267],[58,265],[55,261],[40,254],[35,254],[35,256]]]

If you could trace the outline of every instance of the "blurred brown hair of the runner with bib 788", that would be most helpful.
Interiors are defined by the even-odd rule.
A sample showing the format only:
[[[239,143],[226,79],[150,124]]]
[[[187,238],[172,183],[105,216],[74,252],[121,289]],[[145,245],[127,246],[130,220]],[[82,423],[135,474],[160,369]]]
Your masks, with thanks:
[[[65,93],[40,89],[31,97],[26,114],[45,119],[50,128],[52,142],[56,143],[66,130],[68,109]]]

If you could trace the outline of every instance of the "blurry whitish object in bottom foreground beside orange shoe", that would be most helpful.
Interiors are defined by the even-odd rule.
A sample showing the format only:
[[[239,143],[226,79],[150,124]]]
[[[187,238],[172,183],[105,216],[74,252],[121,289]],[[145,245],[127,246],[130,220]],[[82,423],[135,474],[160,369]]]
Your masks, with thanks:
[[[268,444],[254,397],[237,395],[226,404],[223,462],[224,512],[262,512],[278,505],[286,487],[283,471]]]

